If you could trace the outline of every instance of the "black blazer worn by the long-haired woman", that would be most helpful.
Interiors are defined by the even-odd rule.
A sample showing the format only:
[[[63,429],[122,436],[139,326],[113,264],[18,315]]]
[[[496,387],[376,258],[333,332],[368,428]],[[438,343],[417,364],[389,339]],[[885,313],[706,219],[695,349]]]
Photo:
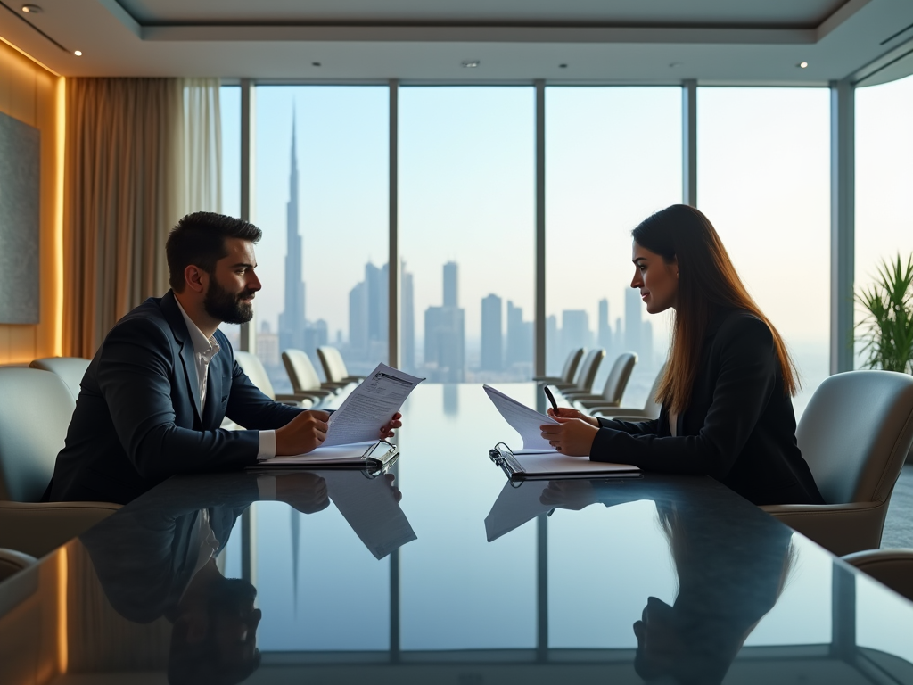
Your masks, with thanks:
[[[824,503],[796,445],[771,330],[747,311],[722,311],[711,322],[677,437],[666,406],[652,421],[599,423],[590,451],[597,461],[706,474],[755,504]]]

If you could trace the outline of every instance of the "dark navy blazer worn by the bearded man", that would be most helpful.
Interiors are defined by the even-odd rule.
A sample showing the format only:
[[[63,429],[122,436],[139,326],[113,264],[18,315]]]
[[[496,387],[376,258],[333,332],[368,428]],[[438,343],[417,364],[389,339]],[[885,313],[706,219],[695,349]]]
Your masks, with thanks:
[[[261,393],[226,336],[215,339],[201,415],[194,343],[173,292],[118,321],[82,379],[45,499],[126,504],[176,473],[256,463],[257,430],[222,430],[222,420],[275,429],[302,410]]]

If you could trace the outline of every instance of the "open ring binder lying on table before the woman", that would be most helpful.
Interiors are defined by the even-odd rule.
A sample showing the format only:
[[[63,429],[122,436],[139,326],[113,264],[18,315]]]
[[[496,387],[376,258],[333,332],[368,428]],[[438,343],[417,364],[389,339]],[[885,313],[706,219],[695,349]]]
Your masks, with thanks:
[[[503,442],[488,450],[488,458],[499,466],[511,483],[523,480],[567,478],[640,478],[641,471],[631,464],[591,461],[589,457],[568,457],[558,452],[515,453]]]

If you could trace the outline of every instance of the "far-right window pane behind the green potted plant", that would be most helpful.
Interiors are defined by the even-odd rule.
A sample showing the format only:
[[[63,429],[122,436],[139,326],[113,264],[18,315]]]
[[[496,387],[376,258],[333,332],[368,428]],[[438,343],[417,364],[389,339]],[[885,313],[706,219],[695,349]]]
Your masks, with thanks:
[[[876,279],[882,259],[913,253],[913,76],[855,91],[855,290]],[[856,321],[865,312],[857,305]],[[861,331],[860,331],[861,332]],[[856,343],[856,366],[867,354]]]

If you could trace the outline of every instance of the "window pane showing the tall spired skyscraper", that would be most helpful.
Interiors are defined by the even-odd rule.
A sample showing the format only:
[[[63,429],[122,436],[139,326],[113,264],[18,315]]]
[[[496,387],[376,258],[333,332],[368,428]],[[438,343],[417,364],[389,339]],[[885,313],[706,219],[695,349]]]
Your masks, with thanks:
[[[351,374],[370,372],[387,360],[389,90],[259,86],[256,96],[257,355],[278,393],[291,389],[289,348],[320,374],[325,344]]]

